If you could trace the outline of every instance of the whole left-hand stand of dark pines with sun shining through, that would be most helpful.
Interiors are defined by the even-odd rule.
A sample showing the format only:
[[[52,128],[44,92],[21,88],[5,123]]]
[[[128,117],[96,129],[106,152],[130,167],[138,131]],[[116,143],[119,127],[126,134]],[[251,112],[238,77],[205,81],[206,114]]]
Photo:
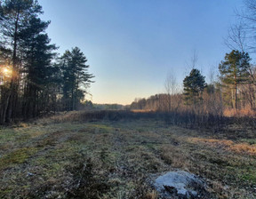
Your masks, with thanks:
[[[58,55],[36,0],[0,1],[0,123],[76,110],[93,75],[78,47]]]

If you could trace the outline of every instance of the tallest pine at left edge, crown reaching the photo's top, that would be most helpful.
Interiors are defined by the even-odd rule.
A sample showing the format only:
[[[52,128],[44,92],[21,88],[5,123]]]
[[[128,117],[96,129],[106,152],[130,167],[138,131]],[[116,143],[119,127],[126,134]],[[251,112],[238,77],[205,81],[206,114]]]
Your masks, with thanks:
[[[4,0],[1,1],[0,38],[1,49],[12,52],[12,80],[4,104],[0,107],[1,123],[10,122],[18,115],[20,63],[22,49],[20,48],[20,31],[27,28],[32,16],[42,13],[42,7],[34,0]],[[3,102],[3,101],[2,101]]]

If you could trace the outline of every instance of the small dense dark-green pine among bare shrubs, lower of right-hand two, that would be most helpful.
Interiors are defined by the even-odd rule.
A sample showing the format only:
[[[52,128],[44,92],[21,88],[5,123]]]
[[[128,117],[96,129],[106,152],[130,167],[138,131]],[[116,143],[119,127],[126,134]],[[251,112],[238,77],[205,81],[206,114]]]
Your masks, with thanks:
[[[200,100],[200,94],[204,91],[206,86],[204,81],[204,76],[200,74],[200,71],[196,68],[193,68],[189,74],[183,80],[184,87],[184,96],[186,103],[196,103]]]

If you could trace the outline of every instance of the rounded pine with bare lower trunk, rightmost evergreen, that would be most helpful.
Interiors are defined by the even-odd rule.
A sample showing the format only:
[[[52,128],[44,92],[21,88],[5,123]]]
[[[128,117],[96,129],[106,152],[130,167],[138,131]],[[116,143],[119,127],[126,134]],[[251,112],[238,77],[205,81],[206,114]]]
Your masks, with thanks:
[[[250,60],[247,52],[233,50],[226,54],[225,60],[219,65],[221,82],[230,85],[231,90],[235,92],[235,108],[237,108],[237,86],[248,82]]]

